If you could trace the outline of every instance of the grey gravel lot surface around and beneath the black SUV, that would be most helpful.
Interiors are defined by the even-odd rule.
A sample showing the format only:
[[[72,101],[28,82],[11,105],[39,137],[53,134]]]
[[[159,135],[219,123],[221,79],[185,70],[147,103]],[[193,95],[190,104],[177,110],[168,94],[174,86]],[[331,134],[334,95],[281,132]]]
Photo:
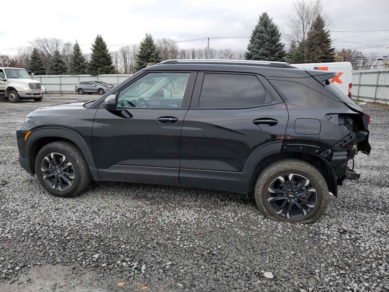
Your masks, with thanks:
[[[37,107],[88,98],[0,101],[0,291],[389,291],[389,107],[363,106],[361,179],[320,222],[289,224],[200,188],[101,182],[52,197],[19,166],[15,130]]]

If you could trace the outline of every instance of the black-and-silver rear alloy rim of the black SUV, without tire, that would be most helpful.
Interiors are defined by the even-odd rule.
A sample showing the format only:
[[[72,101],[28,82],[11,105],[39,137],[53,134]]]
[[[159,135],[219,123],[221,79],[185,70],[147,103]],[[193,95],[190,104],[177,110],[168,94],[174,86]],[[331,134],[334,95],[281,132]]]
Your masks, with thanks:
[[[313,183],[300,174],[282,174],[272,181],[266,197],[276,214],[297,219],[315,208],[317,191]]]

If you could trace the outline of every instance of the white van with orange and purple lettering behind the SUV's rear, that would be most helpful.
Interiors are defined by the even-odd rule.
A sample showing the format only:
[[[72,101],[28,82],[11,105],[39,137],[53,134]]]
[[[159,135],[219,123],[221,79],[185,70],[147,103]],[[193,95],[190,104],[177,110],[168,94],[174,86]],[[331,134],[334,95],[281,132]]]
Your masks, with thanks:
[[[291,65],[298,68],[333,71],[338,73],[338,76],[333,77],[330,81],[351,98],[352,67],[350,62],[307,63]]]

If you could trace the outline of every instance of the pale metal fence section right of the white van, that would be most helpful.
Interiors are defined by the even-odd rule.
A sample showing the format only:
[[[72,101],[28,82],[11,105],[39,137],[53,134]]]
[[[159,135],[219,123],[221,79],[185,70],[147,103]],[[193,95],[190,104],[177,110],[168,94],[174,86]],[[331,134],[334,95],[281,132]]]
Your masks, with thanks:
[[[387,68],[352,71],[352,97],[389,104]]]

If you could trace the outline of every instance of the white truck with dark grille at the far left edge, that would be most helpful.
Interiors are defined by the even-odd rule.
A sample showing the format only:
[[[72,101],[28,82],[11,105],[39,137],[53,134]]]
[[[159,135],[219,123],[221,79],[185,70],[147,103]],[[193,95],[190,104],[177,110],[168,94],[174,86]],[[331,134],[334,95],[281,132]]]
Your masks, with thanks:
[[[26,69],[0,67],[0,97],[4,96],[10,102],[19,102],[21,99],[41,101],[44,95],[44,87],[30,79]]]

